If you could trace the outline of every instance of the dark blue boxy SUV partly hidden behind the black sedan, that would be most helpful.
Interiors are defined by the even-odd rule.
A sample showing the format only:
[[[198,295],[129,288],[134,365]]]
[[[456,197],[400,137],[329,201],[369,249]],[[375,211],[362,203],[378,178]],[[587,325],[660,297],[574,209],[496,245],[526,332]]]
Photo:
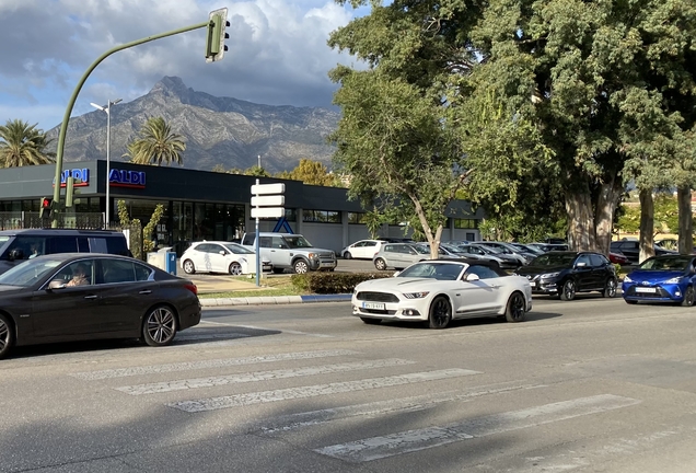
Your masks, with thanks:
[[[34,256],[53,253],[108,253],[132,256],[126,235],[108,230],[25,229],[0,231],[0,274]]]

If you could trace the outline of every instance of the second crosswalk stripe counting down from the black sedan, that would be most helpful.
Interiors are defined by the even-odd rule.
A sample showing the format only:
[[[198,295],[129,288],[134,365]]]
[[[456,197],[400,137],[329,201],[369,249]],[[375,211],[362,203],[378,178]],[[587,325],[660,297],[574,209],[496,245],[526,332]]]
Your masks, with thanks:
[[[352,361],[336,365],[322,365],[305,368],[292,368],[271,371],[256,371],[250,373],[235,373],[220,377],[196,378],[187,380],[164,381],[156,383],[136,384],[116,388],[117,391],[130,395],[154,394],[171,391],[182,391],[198,388],[211,388],[232,383],[256,382],[286,378],[298,378],[316,374],[330,374],[337,372],[357,371],[363,369],[388,368],[395,366],[413,365],[416,361],[398,358],[382,360]]]

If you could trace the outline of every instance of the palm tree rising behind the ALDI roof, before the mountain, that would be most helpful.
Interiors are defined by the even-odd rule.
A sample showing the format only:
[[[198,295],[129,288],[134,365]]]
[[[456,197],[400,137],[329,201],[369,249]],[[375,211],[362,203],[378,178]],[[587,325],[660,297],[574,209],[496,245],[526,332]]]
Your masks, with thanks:
[[[137,164],[182,164],[182,152],[186,150],[186,143],[183,136],[172,132],[172,127],[164,118],[153,117],[140,128],[138,138],[128,143],[127,149],[124,157],[129,157],[130,162]]]

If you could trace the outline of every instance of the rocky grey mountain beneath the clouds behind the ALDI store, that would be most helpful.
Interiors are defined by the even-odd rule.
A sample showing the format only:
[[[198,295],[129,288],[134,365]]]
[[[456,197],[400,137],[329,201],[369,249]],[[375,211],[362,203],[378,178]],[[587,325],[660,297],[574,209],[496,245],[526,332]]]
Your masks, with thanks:
[[[123,161],[126,146],[150,118],[161,116],[186,139],[184,166],[211,170],[256,165],[270,173],[289,171],[300,159],[320,161],[330,169],[334,148],[326,137],[340,114],[328,108],[272,106],[217,97],[187,88],[177,77],[165,77],[132,101],[112,105],[111,159]],[[60,128],[47,135],[57,146]],[[106,158],[106,114],[95,109],[70,118],[66,162]],[[176,165],[176,164],[173,164]]]

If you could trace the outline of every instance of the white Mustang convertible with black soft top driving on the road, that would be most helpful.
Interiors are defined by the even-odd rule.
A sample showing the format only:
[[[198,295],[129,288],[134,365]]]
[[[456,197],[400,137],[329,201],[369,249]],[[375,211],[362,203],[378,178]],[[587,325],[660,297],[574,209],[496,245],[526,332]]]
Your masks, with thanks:
[[[352,293],[352,314],[367,324],[420,321],[444,328],[453,319],[479,316],[521,322],[530,310],[530,281],[480,261],[416,263],[395,277],[360,282]]]

